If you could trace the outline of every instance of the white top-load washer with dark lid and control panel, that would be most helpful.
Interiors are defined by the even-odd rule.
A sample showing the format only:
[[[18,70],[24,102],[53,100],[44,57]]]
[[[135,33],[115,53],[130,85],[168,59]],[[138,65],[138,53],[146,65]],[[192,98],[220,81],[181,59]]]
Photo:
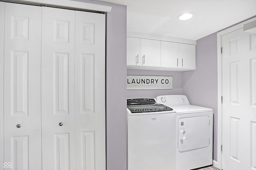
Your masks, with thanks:
[[[176,112],[154,98],[127,99],[127,169],[176,169]]]

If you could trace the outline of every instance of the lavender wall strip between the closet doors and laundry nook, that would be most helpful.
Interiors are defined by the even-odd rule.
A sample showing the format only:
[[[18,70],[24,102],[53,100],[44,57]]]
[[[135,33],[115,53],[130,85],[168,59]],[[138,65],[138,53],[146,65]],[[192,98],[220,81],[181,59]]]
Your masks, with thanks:
[[[77,1],[112,6],[106,32],[106,169],[126,170],[126,6]]]

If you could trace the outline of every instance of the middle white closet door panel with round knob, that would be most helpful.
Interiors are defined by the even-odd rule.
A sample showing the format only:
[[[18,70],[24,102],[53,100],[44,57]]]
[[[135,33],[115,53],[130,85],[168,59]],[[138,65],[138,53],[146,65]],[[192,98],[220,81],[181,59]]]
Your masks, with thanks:
[[[75,11],[42,8],[42,164],[75,169]]]

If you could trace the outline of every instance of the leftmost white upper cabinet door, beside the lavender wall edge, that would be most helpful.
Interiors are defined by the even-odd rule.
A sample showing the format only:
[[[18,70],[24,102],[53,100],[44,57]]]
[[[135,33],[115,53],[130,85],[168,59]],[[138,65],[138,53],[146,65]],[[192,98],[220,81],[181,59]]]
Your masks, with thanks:
[[[127,37],[127,65],[141,65],[140,38]]]

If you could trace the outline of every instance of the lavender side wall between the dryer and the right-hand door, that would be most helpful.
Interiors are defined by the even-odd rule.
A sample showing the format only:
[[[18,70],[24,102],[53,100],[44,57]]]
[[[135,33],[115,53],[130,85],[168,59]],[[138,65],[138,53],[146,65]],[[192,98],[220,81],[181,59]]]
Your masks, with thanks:
[[[188,97],[190,104],[213,109],[213,158],[217,161],[217,33],[196,41],[196,70],[182,74],[182,94]]]

